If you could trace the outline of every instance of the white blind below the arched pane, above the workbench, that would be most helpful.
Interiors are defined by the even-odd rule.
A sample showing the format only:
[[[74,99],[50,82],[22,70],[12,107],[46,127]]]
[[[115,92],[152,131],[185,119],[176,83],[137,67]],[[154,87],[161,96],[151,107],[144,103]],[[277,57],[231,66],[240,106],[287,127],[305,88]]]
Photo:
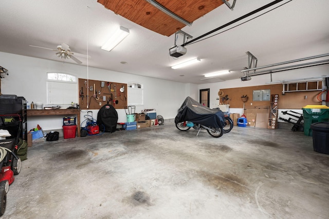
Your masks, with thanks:
[[[78,85],[72,82],[47,81],[47,104],[70,105],[78,102]]]

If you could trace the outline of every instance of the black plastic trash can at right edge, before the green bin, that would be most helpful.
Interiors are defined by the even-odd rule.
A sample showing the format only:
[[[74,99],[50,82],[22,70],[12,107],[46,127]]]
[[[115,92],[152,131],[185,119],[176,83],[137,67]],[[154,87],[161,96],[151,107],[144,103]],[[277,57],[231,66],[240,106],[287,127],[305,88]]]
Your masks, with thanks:
[[[329,122],[313,123],[313,149],[319,153],[329,154]]]

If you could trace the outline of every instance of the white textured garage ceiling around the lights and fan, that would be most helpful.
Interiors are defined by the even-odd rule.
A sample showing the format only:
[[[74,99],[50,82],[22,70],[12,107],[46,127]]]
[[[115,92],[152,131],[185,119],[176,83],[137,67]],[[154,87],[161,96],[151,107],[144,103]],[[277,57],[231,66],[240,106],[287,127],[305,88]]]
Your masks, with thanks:
[[[181,30],[196,38],[270,2],[236,0],[233,11],[223,4]],[[328,8],[328,0],[285,0],[234,24],[239,26],[230,25],[211,34],[213,37],[186,46],[186,55],[173,58],[169,48],[174,45],[175,34],[165,36],[144,28],[106,9],[97,0],[2,0],[0,51],[62,62],[56,52],[29,45],[56,49],[66,43],[71,51],[88,53],[88,65],[96,68],[182,83],[227,81],[243,75],[240,71],[248,66],[247,51],[258,58],[259,66],[328,53]],[[101,50],[119,26],[130,29],[130,35],[111,52]],[[182,44],[180,35],[177,44]],[[196,57],[201,59],[199,64],[170,68]],[[82,66],[87,65],[86,58],[79,59]],[[72,60],[65,62],[76,64]],[[0,66],[6,68],[1,60]],[[220,70],[232,73],[205,79],[204,74]]]

